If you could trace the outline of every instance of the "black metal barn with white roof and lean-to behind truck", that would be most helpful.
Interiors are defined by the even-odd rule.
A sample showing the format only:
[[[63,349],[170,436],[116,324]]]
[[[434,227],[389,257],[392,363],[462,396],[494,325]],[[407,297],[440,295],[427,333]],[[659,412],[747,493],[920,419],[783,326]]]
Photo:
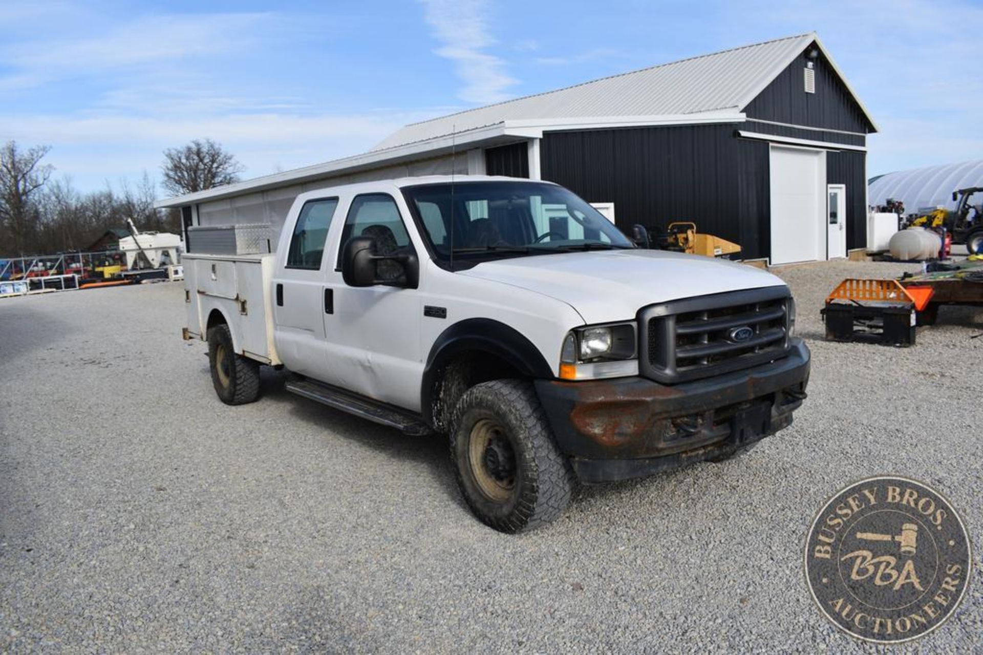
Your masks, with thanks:
[[[186,226],[282,224],[303,191],[455,173],[557,182],[623,230],[696,221],[745,259],[866,245],[870,114],[815,33],[408,125],[364,154],[163,201]],[[189,249],[194,252],[194,243]]]

